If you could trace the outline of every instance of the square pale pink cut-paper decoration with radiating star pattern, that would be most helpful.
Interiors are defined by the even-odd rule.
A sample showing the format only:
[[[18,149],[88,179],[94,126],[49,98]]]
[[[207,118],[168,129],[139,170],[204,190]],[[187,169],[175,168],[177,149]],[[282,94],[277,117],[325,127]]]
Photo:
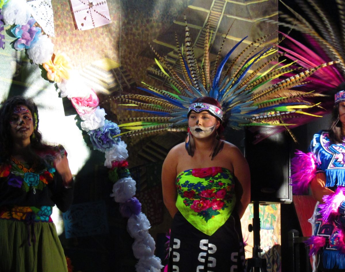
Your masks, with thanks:
[[[71,0],[71,4],[79,30],[92,29],[111,23],[105,0]]]

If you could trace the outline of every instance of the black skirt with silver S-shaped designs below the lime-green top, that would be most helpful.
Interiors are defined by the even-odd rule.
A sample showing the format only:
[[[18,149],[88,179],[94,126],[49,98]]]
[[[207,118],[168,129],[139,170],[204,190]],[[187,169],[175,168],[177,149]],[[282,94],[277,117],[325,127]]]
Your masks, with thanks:
[[[241,222],[236,213],[211,236],[191,225],[178,211],[172,220],[169,272],[245,270]]]

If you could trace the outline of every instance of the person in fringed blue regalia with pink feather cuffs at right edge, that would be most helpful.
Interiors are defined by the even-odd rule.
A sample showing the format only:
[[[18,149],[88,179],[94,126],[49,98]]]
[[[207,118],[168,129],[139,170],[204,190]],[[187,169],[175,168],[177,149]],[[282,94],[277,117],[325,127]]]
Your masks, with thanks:
[[[309,153],[292,160],[295,194],[309,188],[317,200],[307,241],[313,271],[345,271],[345,83],[338,86],[329,130],[314,134]]]

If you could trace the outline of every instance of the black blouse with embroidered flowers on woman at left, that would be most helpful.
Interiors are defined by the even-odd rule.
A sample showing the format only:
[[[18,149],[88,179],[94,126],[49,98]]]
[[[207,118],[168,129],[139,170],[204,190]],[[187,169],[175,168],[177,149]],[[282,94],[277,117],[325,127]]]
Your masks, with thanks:
[[[14,158],[1,163],[0,209],[46,206],[41,212],[49,213],[45,210],[51,210],[51,206],[56,204],[62,212],[66,212],[73,201],[73,184],[71,188],[63,187],[61,176],[51,165],[34,163],[29,166]]]

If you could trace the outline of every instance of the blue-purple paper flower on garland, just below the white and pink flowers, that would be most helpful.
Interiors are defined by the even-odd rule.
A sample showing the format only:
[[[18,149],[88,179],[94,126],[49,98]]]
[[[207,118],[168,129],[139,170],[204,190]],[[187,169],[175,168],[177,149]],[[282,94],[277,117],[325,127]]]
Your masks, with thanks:
[[[120,134],[120,129],[117,124],[105,120],[104,126],[96,130],[88,132],[90,140],[93,144],[93,149],[105,152],[106,149],[111,148],[117,142],[121,141],[120,137],[113,138]]]

